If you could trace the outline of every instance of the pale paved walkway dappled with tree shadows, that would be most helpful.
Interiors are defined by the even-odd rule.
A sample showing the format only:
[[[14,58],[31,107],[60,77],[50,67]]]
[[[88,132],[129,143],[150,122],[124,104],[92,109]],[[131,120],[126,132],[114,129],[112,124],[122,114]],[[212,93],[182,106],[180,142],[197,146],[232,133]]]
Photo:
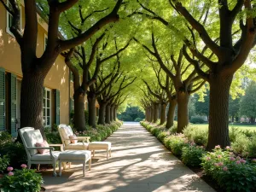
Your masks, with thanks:
[[[112,157],[107,161],[105,153],[96,153],[85,177],[82,165],[73,165],[61,177],[43,172],[47,191],[214,192],[139,124],[125,123],[107,141],[113,145]]]

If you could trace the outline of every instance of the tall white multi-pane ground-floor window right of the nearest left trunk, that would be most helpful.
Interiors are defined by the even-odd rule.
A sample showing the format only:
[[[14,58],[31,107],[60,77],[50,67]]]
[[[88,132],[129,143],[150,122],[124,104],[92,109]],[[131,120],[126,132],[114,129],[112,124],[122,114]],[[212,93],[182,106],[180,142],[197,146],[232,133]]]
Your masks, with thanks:
[[[43,119],[44,127],[51,125],[51,90],[47,88],[44,89]]]

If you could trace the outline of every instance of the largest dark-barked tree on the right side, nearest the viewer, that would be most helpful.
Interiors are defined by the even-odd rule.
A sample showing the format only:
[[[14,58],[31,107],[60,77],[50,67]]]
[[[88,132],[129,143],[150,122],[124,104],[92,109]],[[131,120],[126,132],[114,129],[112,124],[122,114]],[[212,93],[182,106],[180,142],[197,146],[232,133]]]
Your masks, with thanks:
[[[182,3],[172,1],[177,12],[189,22],[195,32],[200,34],[201,40],[211,49],[218,60],[211,60],[198,51],[195,41],[184,39],[191,54],[183,49],[187,60],[195,67],[201,79],[210,84],[210,108],[209,108],[209,135],[207,149],[211,150],[216,145],[226,147],[230,145],[229,137],[229,96],[230,85],[236,71],[247,60],[250,50],[255,45],[256,20],[253,15],[255,11],[250,0],[238,0],[235,6],[230,9],[228,1],[218,1],[219,20],[219,44],[209,36],[206,27],[189,13]],[[241,10],[244,18],[239,17]],[[236,20],[238,18],[239,20]],[[239,24],[237,24],[239,23]],[[232,28],[240,26],[241,34],[233,38]],[[193,32],[193,31],[192,31]],[[199,61],[207,65],[209,70],[203,71]]]

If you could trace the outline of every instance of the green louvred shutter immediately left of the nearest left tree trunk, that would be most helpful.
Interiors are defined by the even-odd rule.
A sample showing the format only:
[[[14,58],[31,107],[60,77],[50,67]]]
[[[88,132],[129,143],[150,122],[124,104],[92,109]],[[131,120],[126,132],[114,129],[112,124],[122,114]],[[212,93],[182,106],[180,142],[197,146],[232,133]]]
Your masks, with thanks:
[[[9,131],[12,137],[17,137],[17,79],[16,75],[9,73]]]

